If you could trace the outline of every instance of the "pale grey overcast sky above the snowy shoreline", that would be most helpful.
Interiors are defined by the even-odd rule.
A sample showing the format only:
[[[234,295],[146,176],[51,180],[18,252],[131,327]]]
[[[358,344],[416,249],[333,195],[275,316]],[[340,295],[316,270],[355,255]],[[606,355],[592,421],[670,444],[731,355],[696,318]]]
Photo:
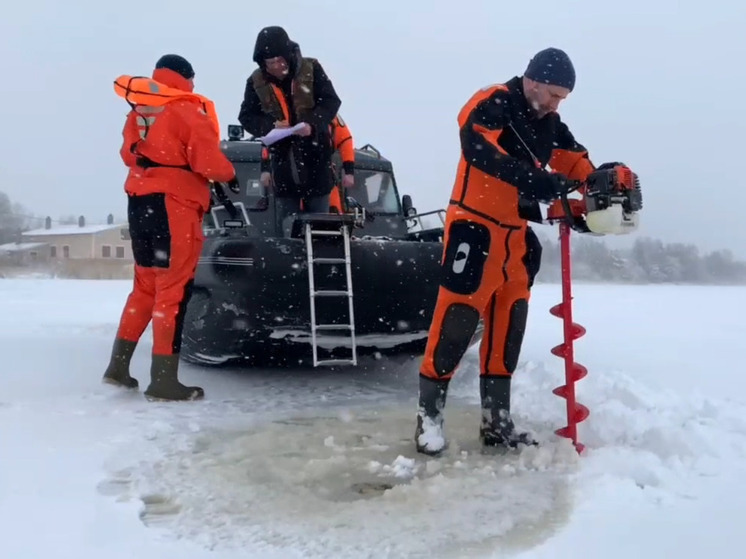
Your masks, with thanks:
[[[639,234],[744,257],[744,21],[741,3],[686,0],[16,2],[0,19],[0,190],[55,219],[126,215],[112,81],[181,54],[225,130],[257,32],[282,25],[332,78],[356,143],[394,162],[418,209],[443,207],[458,111],[556,46],[577,71],[564,120],[595,163],[641,177]]]

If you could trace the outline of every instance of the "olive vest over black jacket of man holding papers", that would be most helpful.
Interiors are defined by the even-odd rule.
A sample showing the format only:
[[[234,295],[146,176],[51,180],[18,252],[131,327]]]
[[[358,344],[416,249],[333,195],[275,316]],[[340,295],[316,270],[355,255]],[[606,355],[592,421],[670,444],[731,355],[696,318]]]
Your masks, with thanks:
[[[313,58],[301,58],[298,72],[292,81],[290,90],[293,96],[295,117],[298,122],[305,120],[306,114],[316,106],[313,95],[314,61]],[[251,74],[251,83],[265,113],[272,115],[277,120],[290,121],[291,115],[282,90],[269,82],[260,68],[254,70]]]

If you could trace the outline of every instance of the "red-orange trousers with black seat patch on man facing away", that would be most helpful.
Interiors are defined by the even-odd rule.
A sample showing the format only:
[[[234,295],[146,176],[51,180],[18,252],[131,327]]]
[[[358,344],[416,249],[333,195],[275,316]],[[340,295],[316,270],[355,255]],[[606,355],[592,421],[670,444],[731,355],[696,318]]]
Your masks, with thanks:
[[[202,211],[164,194],[130,196],[135,279],[117,337],[139,341],[153,321],[153,354],[178,354],[202,250]]]

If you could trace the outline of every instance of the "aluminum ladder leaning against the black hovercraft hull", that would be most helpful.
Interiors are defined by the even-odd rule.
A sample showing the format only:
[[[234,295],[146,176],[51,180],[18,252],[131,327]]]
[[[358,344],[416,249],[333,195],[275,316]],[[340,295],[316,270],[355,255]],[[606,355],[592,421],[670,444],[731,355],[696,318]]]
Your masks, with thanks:
[[[306,255],[308,259],[308,288],[311,304],[311,344],[313,347],[313,366],[323,365],[357,365],[357,344],[355,341],[355,311],[352,292],[352,263],[350,259],[350,225],[343,221],[324,223],[326,227],[319,227],[319,223],[309,221],[305,223]],[[331,226],[331,228],[330,228]],[[342,237],[344,255],[338,257],[319,258],[314,256],[314,237]],[[344,264],[346,289],[318,290],[314,278],[315,265]],[[318,324],[316,322],[316,300],[326,297],[347,297],[349,322],[339,324]],[[347,332],[349,333],[349,347],[351,355],[347,359],[319,359],[319,332]]]

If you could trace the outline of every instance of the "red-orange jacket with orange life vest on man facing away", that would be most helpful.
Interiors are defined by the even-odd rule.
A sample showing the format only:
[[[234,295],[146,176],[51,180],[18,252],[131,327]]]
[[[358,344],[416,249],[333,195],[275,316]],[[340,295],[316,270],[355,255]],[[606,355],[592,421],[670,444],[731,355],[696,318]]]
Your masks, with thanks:
[[[129,167],[125,191],[165,193],[206,211],[209,181],[227,182],[236,175],[220,149],[213,103],[165,68],[156,69],[152,79],[120,76],[114,89],[133,106],[120,149]]]

